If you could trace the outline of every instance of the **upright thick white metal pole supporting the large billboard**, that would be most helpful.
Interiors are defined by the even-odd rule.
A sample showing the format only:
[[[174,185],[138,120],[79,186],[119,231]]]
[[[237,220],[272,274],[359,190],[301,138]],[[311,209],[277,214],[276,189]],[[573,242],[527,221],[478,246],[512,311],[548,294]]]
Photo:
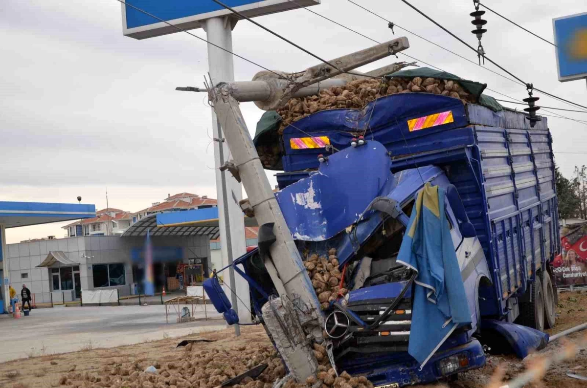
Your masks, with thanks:
[[[229,18],[228,16],[207,19],[204,21],[204,30],[208,42],[232,52],[232,29],[235,24],[236,19]],[[210,44],[208,44],[208,67],[210,69],[212,84],[215,85],[221,81],[234,81],[232,55]],[[242,199],[242,187],[228,171],[220,171],[220,167],[224,162],[230,160],[231,156],[227,143],[222,141],[224,135],[222,134],[222,128],[218,123],[216,114],[213,109],[211,111],[214,138],[220,140],[214,141],[214,166],[216,169],[218,218],[220,220],[220,248],[223,263],[232,264],[232,260],[247,252],[244,216],[238,205],[238,202]],[[228,277],[226,274],[228,274]],[[231,295],[232,306],[237,311],[239,322],[250,323],[251,314],[249,313],[249,306],[251,302],[247,281],[235,274],[231,267],[224,274],[224,284],[224,291],[227,295]],[[227,285],[229,285],[232,291],[227,290]],[[238,325],[235,326],[235,333],[239,335]]]

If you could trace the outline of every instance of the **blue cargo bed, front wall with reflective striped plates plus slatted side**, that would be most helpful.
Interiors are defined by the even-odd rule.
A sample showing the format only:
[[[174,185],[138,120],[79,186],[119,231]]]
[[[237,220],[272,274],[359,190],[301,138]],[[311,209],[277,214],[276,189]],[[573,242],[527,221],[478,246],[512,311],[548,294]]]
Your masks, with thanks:
[[[531,128],[524,114],[434,94],[381,97],[362,111],[321,111],[286,127],[285,172],[278,183],[283,188],[308,176],[319,154],[348,147],[357,135],[384,144],[394,172],[441,166],[463,200],[493,274],[493,287],[480,291],[481,311],[505,316],[507,300],[522,295],[560,250],[547,124],[543,118]]]

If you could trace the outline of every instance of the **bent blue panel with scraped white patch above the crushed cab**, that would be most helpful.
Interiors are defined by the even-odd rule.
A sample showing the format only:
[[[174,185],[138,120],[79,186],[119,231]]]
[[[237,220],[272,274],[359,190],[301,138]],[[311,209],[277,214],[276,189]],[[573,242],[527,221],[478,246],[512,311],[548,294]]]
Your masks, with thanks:
[[[318,172],[275,193],[296,240],[330,239],[394,187],[387,149],[376,141],[330,155]]]

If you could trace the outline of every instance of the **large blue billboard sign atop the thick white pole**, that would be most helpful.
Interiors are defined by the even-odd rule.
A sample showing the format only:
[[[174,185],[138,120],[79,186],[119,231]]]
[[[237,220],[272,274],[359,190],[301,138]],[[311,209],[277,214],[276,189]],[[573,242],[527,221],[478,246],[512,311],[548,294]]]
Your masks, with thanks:
[[[295,2],[289,0],[224,0],[223,2],[249,18],[288,11],[288,9],[300,6],[320,4],[320,0],[296,0]],[[156,16],[156,18],[145,12]],[[231,13],[212,0],[128,0],[122,4],[123,35],[144,39],[178,32],[178,29],[158,19],[163,19],[174,26],[187,30],[200,28],[201,21],[204,19],[226,16]]]

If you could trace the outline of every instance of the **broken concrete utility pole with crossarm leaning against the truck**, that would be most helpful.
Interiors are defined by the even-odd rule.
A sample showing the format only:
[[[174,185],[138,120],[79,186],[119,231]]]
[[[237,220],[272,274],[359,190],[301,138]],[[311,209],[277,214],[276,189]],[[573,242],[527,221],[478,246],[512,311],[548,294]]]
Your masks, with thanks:
[[[239,101],[255,101],[259,108],[271,110],[284,105],[294,96],[316,94],[321,87],[340,86],[346,81],[366,76],[383,77],[403,66],[386,66],[369,74],[350,72],[408,47],[407,38],[398,38],[330,61],[336,67],[319,64],[301,73],[276,72],[283,74],[283,77],[271,72],[261,72],[252,81],[220,82],[211,85],[208,90],[234,158],[230,161],[230,171],[244,185],[248,195],[245,206],[252,209],[261,226],[259,253],[278,292],[262,308],[264,321],[291,376],[298,382],[305,381],[318,369],[310,340],[324,341],[324,315],[249,135]],[[262,249],[262,240],[268,241],[265,249]]]

